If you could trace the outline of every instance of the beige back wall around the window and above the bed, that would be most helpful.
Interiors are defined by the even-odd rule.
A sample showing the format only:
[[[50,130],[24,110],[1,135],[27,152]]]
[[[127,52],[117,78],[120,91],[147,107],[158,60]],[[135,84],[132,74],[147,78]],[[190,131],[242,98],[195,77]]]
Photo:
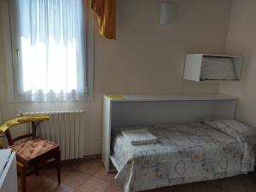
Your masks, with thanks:
[[[0,1],[2,8],[4,1]],[[7,102],[6,65],[10,63],[2,35],[0,107],[3,119],[15,116],[19,110],[84,109],[87,112],[84,153],[97,154],[101,152],[102,141],[102,94],[217,93],[218,83],[183,81],[184,57],[188,52],[224,53],[231,0],[172,0],[170,2],[177,3],[177,20],[169,26],[159,24],[160,2],[117,1],[117,40],[106,40],[95,32],[94,98],[87,102]],[[5,18],[2,16],[2,19]],[[6,31],[3,27],[0,29],[2,33]]]

